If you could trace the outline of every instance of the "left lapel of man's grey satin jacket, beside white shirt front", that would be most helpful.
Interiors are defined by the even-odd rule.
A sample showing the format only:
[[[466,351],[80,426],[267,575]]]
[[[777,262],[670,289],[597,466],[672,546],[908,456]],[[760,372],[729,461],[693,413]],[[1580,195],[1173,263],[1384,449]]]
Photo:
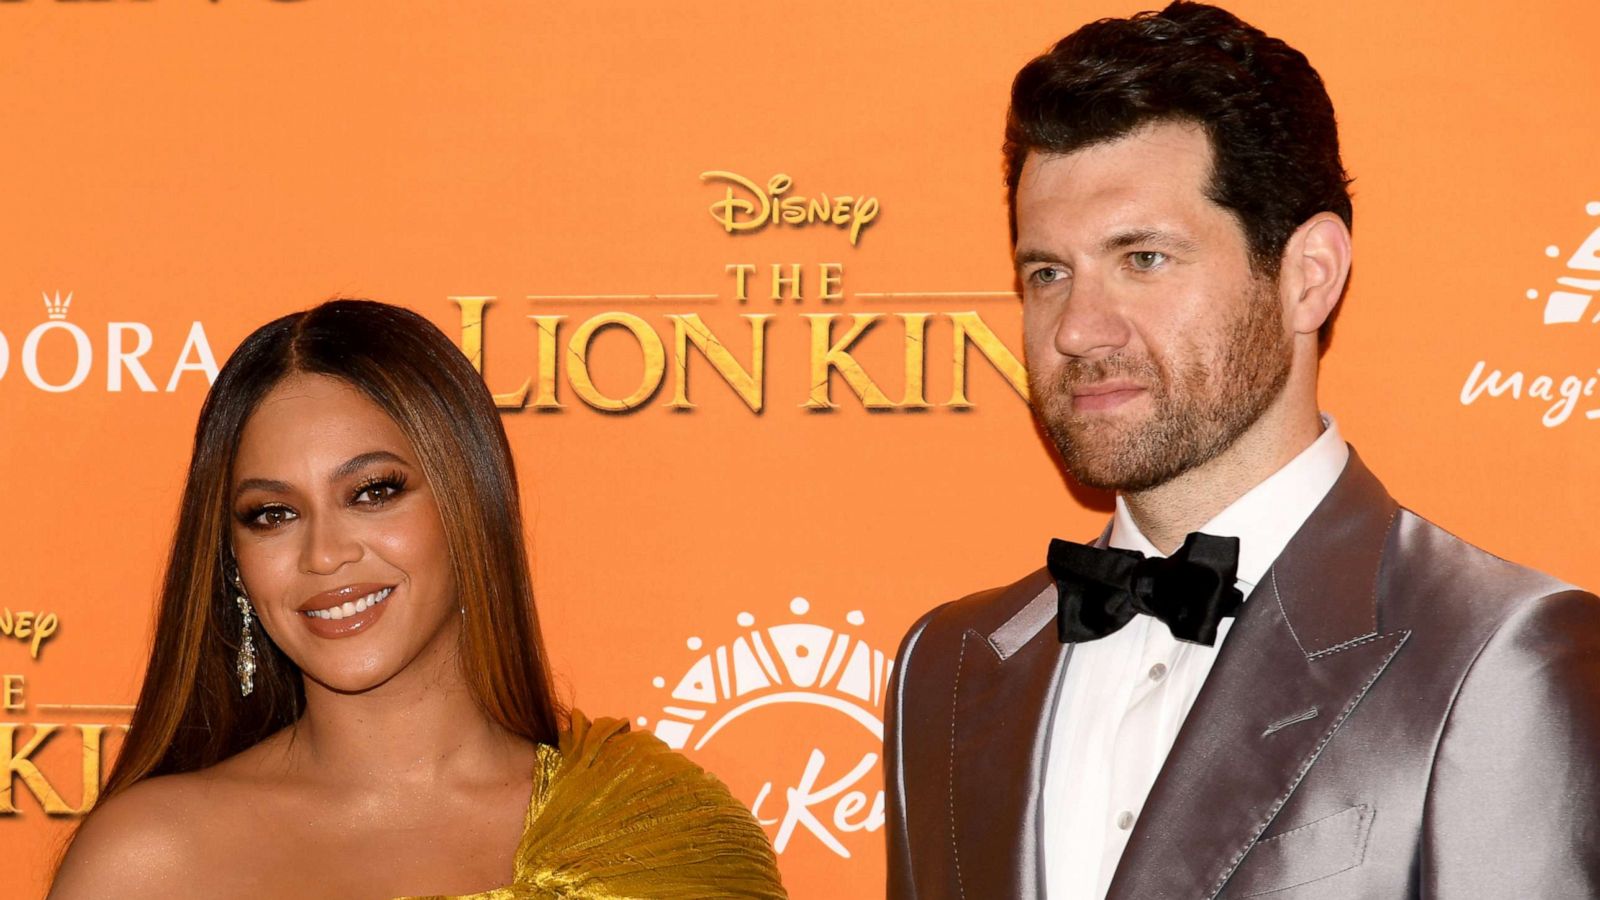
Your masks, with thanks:
[[[1038,812],[1050,719],[1069,649],[1054,586],[1024,580],[1027,604],[1000,629],[968,629],[950,717],[950,839],[966,897],[1038,897]]]

